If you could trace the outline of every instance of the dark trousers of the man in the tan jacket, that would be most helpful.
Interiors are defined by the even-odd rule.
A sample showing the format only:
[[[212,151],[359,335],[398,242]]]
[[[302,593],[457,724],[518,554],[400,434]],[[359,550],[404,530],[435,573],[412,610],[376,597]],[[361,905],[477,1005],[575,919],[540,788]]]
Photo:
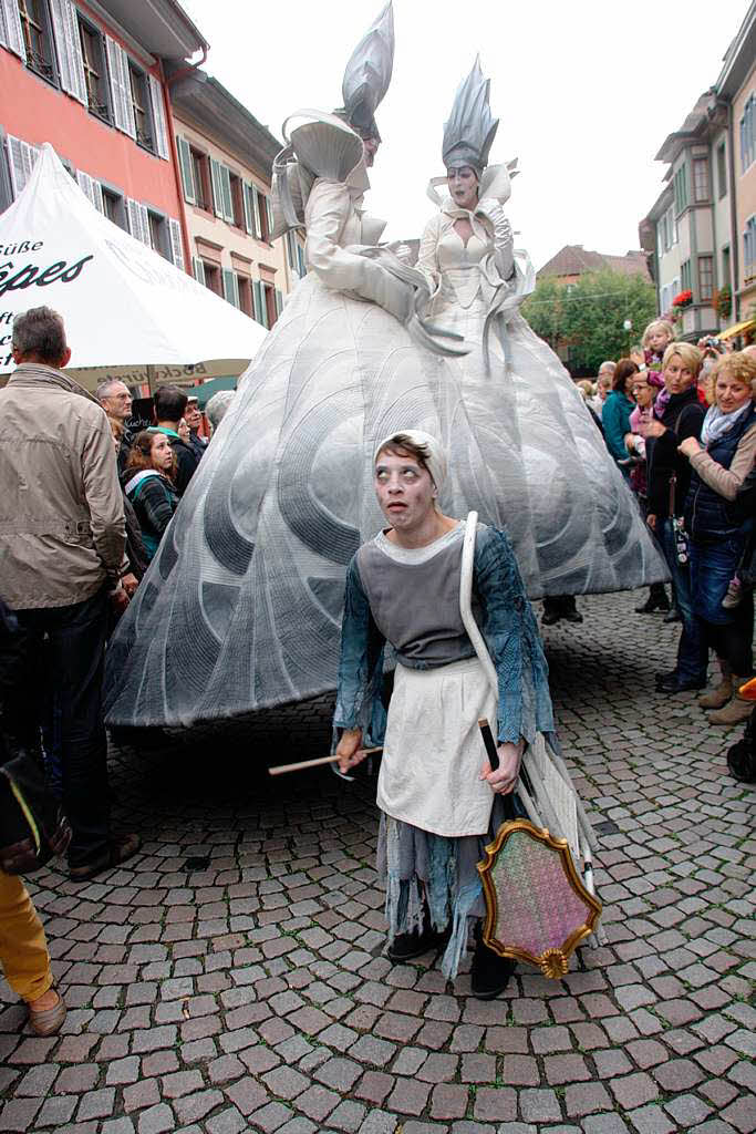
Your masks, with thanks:
[[[29,728],[45,726],[59,753],[62,804],[74,837],[68,862],[80,866],[110,843],[108,741],[102,677],[109,602],[105,590],[70,607],[16,610],[17,649],[33,674]]]

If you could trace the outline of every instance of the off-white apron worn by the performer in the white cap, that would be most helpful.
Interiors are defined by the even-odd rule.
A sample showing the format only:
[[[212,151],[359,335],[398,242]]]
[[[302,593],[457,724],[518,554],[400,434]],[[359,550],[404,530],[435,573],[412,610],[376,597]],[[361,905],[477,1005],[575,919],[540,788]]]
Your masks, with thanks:
[[[392,819],[457,838],[485,835],[494,794],[478,720],[496,731],[496,697],[477,658],[435,669],[398,665],[377,805]]]

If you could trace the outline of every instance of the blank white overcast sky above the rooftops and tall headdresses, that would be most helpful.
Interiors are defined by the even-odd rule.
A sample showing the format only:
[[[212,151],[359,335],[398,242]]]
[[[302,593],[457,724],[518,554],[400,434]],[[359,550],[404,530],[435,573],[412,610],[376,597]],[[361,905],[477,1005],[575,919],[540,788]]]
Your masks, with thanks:
[[[181,0],[206,69],[277,137],[301,107],[341,103],[347,59],[381,0]],[[564,244],[622,254],[662,189],[654,162],[720,73],[747,0],[394,0],[393,78],[368,211],[419,236],[441,136],[476,52],[500,119],[491,161],[517,156],[508,213],[536,268]],[[445,15],[444,15],[445,12]]]

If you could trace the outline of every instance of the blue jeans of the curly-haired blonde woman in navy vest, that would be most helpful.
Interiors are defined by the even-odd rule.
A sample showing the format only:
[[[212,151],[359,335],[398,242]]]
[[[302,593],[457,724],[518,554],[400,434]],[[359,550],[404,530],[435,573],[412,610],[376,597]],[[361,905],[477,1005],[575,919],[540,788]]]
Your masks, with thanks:
[[[725,610],[722,600],[730,579],[738,570],[746,536],[690,540],[690,589],[693,606],[702,624],[702,637],[738,677],[748,677],[753,668],[754,598],[748,591],[740,603]]]

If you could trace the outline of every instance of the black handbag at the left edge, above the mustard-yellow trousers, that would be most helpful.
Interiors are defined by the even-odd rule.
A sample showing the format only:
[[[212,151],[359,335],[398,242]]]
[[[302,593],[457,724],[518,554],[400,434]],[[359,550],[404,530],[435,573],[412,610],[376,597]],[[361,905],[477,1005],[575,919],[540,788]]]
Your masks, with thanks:
[[[31,874],[65,854],[71,829],[44,771],[22,751],[0,767],[0,870]]]

